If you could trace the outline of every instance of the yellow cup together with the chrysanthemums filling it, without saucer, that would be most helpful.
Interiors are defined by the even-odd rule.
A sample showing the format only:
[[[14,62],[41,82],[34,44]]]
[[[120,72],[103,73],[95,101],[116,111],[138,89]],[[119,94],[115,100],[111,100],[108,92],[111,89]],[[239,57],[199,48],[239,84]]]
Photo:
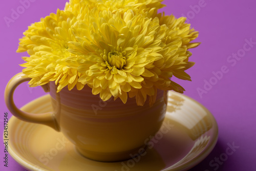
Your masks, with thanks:
[[[171,78],[190,80],[188,49],[199,45],[191,42],[198,32],[186,18],[158,13],[161,3],[70,0],[32,24],[17,50],[29,54],[25,69],[6,86],[10,112],[61,132],[92,160],[116,162],[145,152],[164,122],[167,91],[184,91]],[[17,108],[13,93],[25,81],[49,92],[35,108],[51,103],[51,111]]]

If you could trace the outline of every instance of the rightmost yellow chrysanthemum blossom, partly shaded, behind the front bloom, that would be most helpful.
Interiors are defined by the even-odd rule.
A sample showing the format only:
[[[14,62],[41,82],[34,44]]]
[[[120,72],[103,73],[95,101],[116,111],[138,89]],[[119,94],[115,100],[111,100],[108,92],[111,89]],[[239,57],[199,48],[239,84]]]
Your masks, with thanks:
[[[157,89],[164,91],[174,90],[179,93],[185,91],[179,84],[170,80],[172,76],[191,80],[190,76],[184,72],[194,65],[194,62],[188,61],[191,53],[187,49],[197,47],[200,43],[190,42],[198,36],[198,32],[190,29],[190,25],[186,24],[185,20],[186,18],[184,17],[176,19],[173,15],[162,16],[160,14],[150,23],[151,27],[160,26],[154,36],[156,39],[161,40],[161,44],[159,44],[161,51],[158,52],[161,58],[155,60],[152,66],[147,68],[147,74],[150,73],[151,75],[143,75],[142,88],[129,92],[136,96],[136,99],[138,98],[145,102],[146,95],[150,95],[150,102],[154,103],[156,98],[154,92]]]

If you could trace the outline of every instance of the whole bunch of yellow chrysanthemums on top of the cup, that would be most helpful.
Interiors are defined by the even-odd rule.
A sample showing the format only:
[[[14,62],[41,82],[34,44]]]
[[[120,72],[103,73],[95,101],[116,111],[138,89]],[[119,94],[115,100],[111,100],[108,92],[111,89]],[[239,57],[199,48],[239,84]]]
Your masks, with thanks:
[[[55,81],[57,92],[87,84],[103,101],[136,97],[155,102],[157,90],[184,89],[198,32],[186,18],[158,13],[162,0],[70,0],[64,10],[32,24],[20,39],[30,87]],[[148,97],[147,97],[148,96]]]

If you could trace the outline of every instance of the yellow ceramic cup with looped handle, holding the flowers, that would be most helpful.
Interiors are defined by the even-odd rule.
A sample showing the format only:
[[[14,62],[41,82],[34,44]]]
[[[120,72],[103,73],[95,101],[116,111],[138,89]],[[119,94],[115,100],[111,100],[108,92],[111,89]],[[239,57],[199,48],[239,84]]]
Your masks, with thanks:
[[[50,92],[53,112],[30,114],[20,111],[13,102],[16,87],[30,78],[19,73],[12,77],[5,90],[5,101],[10,112],[24,121],[41,123],[61,131],[83,156],[97,161],[120,161],[138,154],[145,140],[160,129],[166,112],[163,91],[157,91],[156,102],[137,106],[135,98],[126,104],[114,98],[102,101],[85,86],[78,91],[67,88],[56,93],[50,82],[42,88]]]

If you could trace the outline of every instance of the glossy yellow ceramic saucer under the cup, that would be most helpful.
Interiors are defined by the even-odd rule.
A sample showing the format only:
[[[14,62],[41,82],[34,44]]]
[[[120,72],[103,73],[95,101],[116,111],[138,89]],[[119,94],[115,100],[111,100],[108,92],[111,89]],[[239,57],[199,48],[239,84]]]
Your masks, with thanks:
[[[52,110],[50,96],[33,100],[22,108],[30,113]],[[28,170],[143,171],[187,170],[202,161],[214,148],[218,126],[214,117],[197,101],[169,92],[164,124],[147,143],[141,155],[122,162],[97,162],[77,153],[62,133],[50,127],[12,117],[9,121],[10,154]],[[150,137],[149,137],[150,138]]]

